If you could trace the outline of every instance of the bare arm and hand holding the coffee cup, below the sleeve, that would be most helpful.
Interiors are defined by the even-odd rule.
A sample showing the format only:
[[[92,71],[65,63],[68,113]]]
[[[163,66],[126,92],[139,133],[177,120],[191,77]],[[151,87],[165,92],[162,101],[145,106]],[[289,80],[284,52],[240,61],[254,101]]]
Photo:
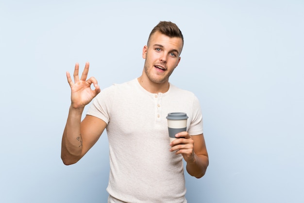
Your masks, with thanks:
[[[190,136],[187,132],[178,133],[179,138],[170,143],[171,152],[176,151],[176,154],[182,154],[187,165],[187,172],[201,178],[206,172],[209,165],[208,153],[206,150],[203,134]]]

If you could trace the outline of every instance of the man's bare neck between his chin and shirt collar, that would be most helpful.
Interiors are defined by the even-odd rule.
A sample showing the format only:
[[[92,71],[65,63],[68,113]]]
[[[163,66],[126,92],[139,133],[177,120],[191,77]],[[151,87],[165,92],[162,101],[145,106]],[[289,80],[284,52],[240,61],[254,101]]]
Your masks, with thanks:
[[[164,83],[154,83],[144,75],[141,75],[137,80],[145,90],[153,94],[165,93],[169,90],[169,81]]]

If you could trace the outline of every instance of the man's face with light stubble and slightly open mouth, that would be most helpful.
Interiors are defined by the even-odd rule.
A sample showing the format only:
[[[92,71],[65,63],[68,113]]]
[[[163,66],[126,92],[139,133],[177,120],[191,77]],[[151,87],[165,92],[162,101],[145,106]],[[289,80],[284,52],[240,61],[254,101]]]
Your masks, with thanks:
[[[183,41],[179,37],[169,37],[156,32],[152,34],[148,46],[144,46],[144,73],[156,84],[169,82],[169,76],[179,64]]]

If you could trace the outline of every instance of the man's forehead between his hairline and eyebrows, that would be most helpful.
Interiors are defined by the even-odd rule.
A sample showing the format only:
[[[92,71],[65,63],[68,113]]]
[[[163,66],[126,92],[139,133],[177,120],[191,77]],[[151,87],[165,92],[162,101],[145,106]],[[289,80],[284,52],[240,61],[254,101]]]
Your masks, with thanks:
[[[165,49],[178,50],[183,49],[183,40],[180,37],[169,37],[160,32],[155,32],[151,35],[148,46],[161,45]]]

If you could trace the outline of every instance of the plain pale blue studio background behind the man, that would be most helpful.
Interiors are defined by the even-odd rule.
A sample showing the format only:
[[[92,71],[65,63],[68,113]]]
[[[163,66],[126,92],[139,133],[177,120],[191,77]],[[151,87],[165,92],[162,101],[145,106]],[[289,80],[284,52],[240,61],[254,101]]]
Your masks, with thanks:
[[[185,37],[170,82],[200,99],[210,165],[189,203],[304,202],[304,1],[0,0],[1,203],[105,203],[107,136],[60,159],[70,88],[140,76],[160,20]]]

